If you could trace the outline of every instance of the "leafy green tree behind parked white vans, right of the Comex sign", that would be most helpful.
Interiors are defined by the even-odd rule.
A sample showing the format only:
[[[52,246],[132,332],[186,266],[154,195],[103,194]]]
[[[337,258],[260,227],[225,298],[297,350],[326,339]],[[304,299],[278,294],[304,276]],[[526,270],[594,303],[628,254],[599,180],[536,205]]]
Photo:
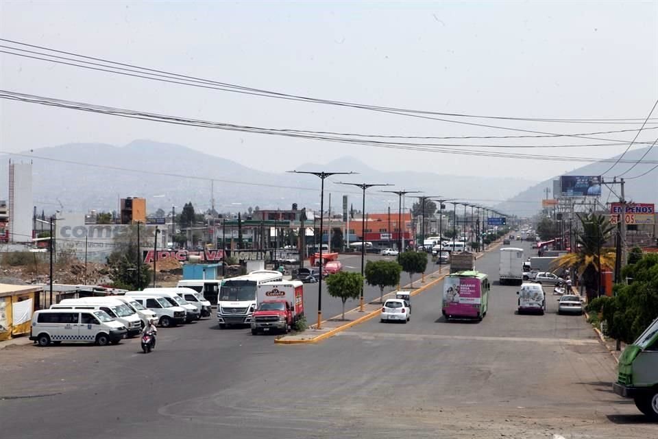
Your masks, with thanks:
[[[147,233],[145,233],[144,227],[141,228],[140,233],[142,239],[140,244],[146,246],[148,244]],[[149,284],[151,269],[148,264],[141,261],[138,273],[137,258],[141,259],[142,255],[138,254],[137,226],[135,225],[130,226],[125,233],[114,238],[114,250],[108,257],[108,272],[114,287],[138,289],[138,286],[146,287]]]

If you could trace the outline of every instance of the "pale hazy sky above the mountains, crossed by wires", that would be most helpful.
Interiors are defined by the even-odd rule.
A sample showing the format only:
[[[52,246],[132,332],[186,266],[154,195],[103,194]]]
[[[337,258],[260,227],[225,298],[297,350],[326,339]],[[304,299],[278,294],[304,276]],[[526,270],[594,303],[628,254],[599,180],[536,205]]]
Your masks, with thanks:
[[[644,119],[658,98],[656,1],[2,1],[0,16],[1,38],[232,84],[379,106],[489,116]],[[0,54],[0,62],[4,90],[167,115],[362,134],[528,134],[162,84],[7,54]],[[350,155],[376,169],[517,173],[531,180],[586,164],[342,145],[170,126],[4,100],[0,112],[2,152],[69,142],[124,145],[133,139],[152,139],[269,171]],[[656,119],[648,127],[658,126],[658,110],[653,116]],[[641,121],[452,119],[552,133],[641,125]],[[648,130],[639,141],[653,141],[656,132]],[[630,141],[633,135],[598,137]],[[602,143],[569,137],[433,142]],[[623,152],[626,146],[471,148],[603,158]]]

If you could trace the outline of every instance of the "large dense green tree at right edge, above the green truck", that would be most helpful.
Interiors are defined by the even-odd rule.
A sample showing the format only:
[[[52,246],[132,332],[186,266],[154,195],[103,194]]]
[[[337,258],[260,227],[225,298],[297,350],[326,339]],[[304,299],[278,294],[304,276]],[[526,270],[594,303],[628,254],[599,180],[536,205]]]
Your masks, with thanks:
[[[646,254],[637,263],[626,265],[622,276],[631,279],[629,285],[615,285],[614,297],[592,305],[600,305],[606,335],[632,343],[658,316],[658,254]]]

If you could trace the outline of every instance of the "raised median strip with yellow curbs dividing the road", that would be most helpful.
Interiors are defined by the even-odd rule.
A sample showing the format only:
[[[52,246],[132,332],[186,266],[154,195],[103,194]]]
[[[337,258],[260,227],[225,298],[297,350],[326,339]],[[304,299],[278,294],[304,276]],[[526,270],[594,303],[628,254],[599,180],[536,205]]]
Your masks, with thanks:
[[[493,242],[483,252],[476,253],[475,254],[476,261],[481,257],[483,257],[483,255],[486,252],[498,248],[498,246],[500,246],[500,242],[501,241]],[[443,267],[441,267],[440,272],[439,270],[437,270],[435,272],[432,272],[431,274],[427,274],[425,276],[424,284],[420,279],[414,281],[416,285],[421,283],[422,285],[420,287],[411,288],[411,284],[409,284],[402,286],[400,289],[411,290],[411,296],[415,296],[417,294],[421,294],[426,289],[429,289],[430,287],[437,285],[437,283],[439,283],[447,274],[450,274],[450,265],[443,265]],[[384,300],[386,300],[396,291],[398,290],[393,290],[392,292],[388,292],[387,294],[384,294],[383,297]],[[334,318],[323,320],[321,322],[320,329],[315,329],[317,324],[313,324],[310,328],[306,329],[306,331],[300,333],[293,333],[289,335],[283,335],[282,337],[278,337],[276,340],[274,340],[274,342],[277,344],[317,343],[321,340],[326,340],[327,338],[332,337],[333,335],[341,331],[345,331],[345,329],[349,329],[355,326],[356,324],[367,322],[367,320],[376,318],[377,316],[379,316],[381,308],[382,308],[382,302],[380,302],[379,299],[376,299],[369,303],[365,303],[363,305],[363,312],[359,311],[358,307],[354,309],[350,309],[350,311],[345,311],[345,320],[341,319],[341,315],[335,316]]]

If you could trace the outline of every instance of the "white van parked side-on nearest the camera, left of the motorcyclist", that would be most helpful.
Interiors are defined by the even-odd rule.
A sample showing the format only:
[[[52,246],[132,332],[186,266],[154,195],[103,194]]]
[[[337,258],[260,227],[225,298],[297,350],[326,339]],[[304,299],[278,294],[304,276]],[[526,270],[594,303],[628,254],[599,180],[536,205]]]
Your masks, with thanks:
[[[105,346],[125,338],[121,322],[112,320],[105,311],[90,309],[42,309],[32,316],[29,340],[39,346],[61,342],[88,342]]]

